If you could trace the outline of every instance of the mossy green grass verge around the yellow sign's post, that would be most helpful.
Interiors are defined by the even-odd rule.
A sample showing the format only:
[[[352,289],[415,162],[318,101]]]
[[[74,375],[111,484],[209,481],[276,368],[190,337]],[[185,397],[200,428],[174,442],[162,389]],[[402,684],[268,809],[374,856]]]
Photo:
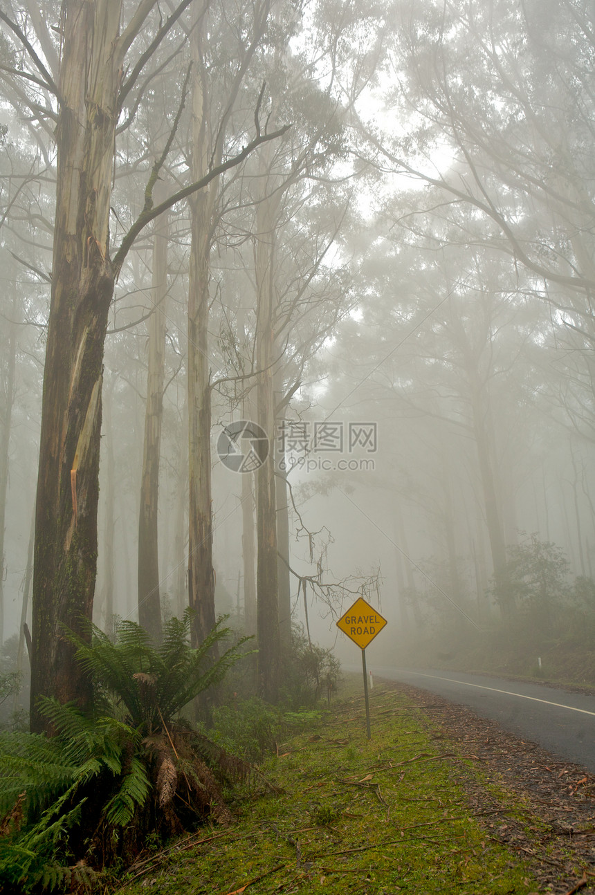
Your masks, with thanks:
[[[370,707],[370,741],[361,696],[336,703],[260,764],[233,825],[137,862],[121,895],[535,892],[528,866],[468,804],[472,762],[397,691],[373,690]]]

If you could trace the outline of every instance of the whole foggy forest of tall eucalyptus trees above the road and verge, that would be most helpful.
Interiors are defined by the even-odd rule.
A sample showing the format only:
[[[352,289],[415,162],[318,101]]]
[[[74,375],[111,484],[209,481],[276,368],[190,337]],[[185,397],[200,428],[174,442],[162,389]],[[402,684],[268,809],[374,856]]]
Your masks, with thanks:
[[[369,664],[595,685],[594,19],[3,0],[0,753],[78,744],[63,826],[225,812],[213,713],[330,704],[360,597]]]

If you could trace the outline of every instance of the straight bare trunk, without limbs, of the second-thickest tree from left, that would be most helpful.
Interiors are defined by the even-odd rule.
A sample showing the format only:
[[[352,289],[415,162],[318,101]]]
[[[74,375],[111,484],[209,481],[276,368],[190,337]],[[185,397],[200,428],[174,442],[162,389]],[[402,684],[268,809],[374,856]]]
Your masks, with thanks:
[[[208,168],[207,76],[203,61],[206,21],[196,22],[192,38],[195,80],[192,91],[192,176]],[[192,197],[190,284],[188,292],[188,601],[194,610],[192,643],[200,644],[215,625],[213,520],[211,509],[211,389],[208,370],[208,280],[212,214],[217,182]]]

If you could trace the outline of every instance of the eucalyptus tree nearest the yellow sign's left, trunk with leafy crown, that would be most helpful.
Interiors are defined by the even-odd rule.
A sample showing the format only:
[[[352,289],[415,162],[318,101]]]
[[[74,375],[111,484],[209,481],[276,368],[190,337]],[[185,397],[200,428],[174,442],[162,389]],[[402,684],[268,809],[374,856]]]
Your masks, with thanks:
[[[262,153],[254,169],[253,267],[247,270],[255,293],[254,341],[238,363],[256,382],[254,419],[269,445],[256,472],[256,529],[259,686],[270,700],[276,699],[281,644],[287,654],[291,640],[290,499],[285,467],[279,468],[276,452],[279,426],[302,385],[304,368],[348,303],[343,262],[335,259],[333,266],[327,260],[328,254],[338,252],[335,243],[348,196],[336,184],[333,189],[318,183],[325,167],[333,164],[341,128],[327,105],[326,115],[314,116],[308,130],[300,106],[304,93],[297,94],[296,85],[293,94],[287,91],[293,117],[300,123],[296,136],[279,141],[274,152]],[[315,98],[324,111],[324,94],[308,85],[305,96],[310,103]],[[242,335],[238,342],[244,342],[245,352]]]

